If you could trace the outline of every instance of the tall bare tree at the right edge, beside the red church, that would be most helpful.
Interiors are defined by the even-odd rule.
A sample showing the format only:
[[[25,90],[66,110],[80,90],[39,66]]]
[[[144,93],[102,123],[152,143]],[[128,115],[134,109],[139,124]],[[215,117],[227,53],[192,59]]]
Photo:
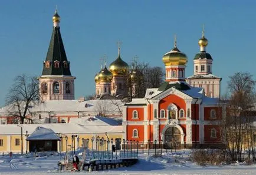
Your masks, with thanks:
[[[252,147],[253,121],[248,109],[255,103],[254,87],[255,81],[247,72],[237,72],[229,77],[227,117],[224,126],[227,148],[232,160],[241,161],[246,144]],[[250,152],[249,149],[249,157]]]

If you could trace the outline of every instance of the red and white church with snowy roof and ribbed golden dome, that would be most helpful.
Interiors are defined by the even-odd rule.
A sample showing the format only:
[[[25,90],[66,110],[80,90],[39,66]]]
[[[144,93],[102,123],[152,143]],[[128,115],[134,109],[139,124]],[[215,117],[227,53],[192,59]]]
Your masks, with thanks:
[[[202,47],[206,41],[203,35],[199,45]],[[206,55],[204,50],[201,52]],[[221,146],[224,104],[219,103],[219,98],[207,97],[202,86],[192,87],[186,83],[188,58],[177,48],[176,39],[175,47],[162,60],[165,82],[159,88],[147,89],[144,98],[133,99],[124,105],[124,139],[139,141],[140,147],[149,144],[152,148],[155,142],[165,148]]]

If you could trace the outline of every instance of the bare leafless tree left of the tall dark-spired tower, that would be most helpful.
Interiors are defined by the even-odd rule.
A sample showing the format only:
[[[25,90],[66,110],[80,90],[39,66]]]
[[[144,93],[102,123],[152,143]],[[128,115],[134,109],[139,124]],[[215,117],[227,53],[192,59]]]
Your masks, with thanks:
[[[8,113],[12,117],[17,117],[20,123],[24,123],[30,113],[29,107],[39,100],[39,85],[37,77],[27,77],[19,75],[15,78],[14,84],[9,89],[5,98]]]

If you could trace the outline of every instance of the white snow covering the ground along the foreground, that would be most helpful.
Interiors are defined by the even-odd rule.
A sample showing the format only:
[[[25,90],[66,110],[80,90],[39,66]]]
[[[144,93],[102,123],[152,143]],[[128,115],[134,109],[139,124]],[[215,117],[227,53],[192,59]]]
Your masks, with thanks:
[[[163,153],[163,156],[147,156],[140,153],[139,162],[131,167],[122,167],[109,171],[76,172],[76,174],[256,174],[256,164],[246,166],[243,163],[235,163],[228,166],[197,166],[189,161],[189,150],[179,150],[177,153]],[[150,153],[150,154],[153,154]],[[0,156],[0,174],[72,174],[70,171],[58,171],[58,153],[39,153],[39,157],[33,154],[13,157]]]

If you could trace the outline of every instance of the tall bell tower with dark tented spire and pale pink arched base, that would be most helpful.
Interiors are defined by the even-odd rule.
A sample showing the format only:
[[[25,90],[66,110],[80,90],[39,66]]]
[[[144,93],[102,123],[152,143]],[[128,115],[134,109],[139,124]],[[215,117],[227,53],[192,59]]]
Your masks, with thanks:
[[[74,100],[74,80],[65,54],[57,9],[52,16],[53,28],[42,75],[38,77],[40,100]]]

